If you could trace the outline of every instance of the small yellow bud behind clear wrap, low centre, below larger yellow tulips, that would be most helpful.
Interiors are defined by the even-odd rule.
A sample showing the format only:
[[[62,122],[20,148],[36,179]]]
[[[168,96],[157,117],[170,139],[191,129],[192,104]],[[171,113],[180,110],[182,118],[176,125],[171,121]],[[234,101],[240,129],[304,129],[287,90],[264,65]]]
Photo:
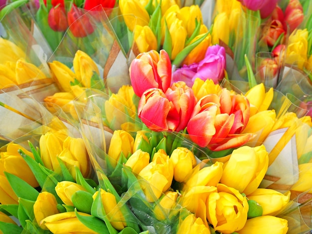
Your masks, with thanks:
[[[159,204],[154,208],[154,214],[159,221],[170,219],[170,212],[176,206],[176,199],[178,197],[177,192],[168,191],[162,198],[160,197]],[[174,215],[174,213],[172,214]]]

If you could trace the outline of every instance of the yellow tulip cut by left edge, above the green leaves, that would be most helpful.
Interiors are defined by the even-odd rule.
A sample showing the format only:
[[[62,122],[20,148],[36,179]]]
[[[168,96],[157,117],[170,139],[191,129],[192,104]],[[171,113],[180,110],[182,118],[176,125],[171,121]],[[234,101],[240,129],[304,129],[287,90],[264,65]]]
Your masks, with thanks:
[[[21,149],[25,154],[33,158],[32,153],[22,146],[15,143],[9,143],[6,152],[0,153],[0,175],[4,176],[4,171],[6,171],[18,176],[32,187],[38,187],[39,184],[35,176],[26,161],[19,155],[17,151],[18,149]]]

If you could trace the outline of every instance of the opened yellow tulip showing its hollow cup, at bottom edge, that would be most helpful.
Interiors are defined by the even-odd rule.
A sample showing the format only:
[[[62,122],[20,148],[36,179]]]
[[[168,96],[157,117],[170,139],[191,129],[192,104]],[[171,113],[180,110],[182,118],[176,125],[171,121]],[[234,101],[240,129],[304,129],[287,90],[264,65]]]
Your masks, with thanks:
[[[218,192],[207,199],[207,219],[214,230],[230,234],[241,230],[247,221],[248,202],[236,189],[217,185]]]

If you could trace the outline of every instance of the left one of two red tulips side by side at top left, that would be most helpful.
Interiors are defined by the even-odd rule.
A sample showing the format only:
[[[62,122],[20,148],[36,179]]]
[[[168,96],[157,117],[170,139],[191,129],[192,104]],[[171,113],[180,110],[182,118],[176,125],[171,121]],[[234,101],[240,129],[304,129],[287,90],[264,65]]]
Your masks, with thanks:
[[[68,28],[65,7],[57,5],[52,7],[48,14],[50,28],[57,32],[63,32]]]

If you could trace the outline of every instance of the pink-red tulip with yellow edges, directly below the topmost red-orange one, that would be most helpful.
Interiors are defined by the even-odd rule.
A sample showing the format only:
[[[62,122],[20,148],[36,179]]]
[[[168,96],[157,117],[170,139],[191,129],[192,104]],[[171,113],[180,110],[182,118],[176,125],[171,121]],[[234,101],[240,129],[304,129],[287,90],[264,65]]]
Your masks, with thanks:
[[[179,114],[161,89],[146,90],[138,106],[138,116],[154,131],[175,131],[179,125]]]

